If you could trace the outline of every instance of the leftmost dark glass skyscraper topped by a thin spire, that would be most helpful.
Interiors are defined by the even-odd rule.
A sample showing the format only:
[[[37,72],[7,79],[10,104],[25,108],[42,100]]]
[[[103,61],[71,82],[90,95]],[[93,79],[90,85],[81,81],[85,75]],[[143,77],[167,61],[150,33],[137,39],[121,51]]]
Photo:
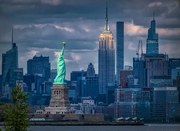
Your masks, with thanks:
[[[5,86],[11,86],[13,82],[14,70],[18,68],[18,47],[13,42],[12,29],[12,48],[2,54],[2,94],[5,93]]]

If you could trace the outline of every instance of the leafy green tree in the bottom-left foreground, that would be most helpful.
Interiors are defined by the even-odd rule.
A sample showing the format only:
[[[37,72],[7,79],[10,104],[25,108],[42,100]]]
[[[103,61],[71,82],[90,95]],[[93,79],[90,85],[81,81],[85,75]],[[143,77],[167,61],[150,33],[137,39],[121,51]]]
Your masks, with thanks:
[[[26,131],[29,126],[27,94],[17,85],[12,89],[12,103],[5,108],[5,131]]]

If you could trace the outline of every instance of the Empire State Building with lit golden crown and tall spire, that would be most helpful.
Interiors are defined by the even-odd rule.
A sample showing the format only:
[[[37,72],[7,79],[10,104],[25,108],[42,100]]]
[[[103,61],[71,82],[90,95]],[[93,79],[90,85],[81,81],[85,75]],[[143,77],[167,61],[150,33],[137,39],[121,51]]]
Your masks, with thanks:
[[[108,8],[106,4],[106,25],[99,35],[98,69],[99,69],[99,94],[107,94],[108,89],[115,82],[115,49],[113,34],[108,24]]]

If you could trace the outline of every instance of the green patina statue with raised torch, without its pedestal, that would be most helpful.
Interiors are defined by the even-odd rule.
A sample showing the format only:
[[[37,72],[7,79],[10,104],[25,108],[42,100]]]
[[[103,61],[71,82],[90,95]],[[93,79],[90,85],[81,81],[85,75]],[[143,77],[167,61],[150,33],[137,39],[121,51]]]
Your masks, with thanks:
[[[66,77],[66,65],[63,58],[64,54],[64,48],[65,48],[65,42],[63,42],[63,48],[59,52],[58,59],[57,59],[57,75],[54,79],[53,84],[66,84],[65,83],[65,77]]]

